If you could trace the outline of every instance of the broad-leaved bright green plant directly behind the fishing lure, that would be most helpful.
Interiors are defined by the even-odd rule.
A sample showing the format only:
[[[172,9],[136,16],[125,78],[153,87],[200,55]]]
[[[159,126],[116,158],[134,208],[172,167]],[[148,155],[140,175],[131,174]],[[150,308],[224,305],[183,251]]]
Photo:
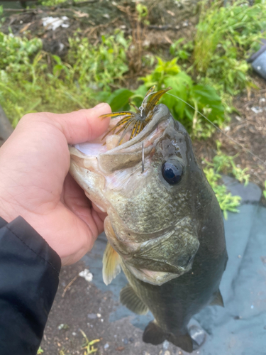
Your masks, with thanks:
[[[140,80],[143,80],[144,84],[134,92],[120,89],[106,98],[113,110],[128,109],[129,97],[131,97],[131,102],[139,107],[145,93],[153,85],[156,85],[157,90],[172,87],[170,95],[165,94],[162,97],[162,103],[167,105],[174,119],[182,122],[192,136],[210,136],[214,130],[202,116],[198,115],[197,111],[208,116],[212,122],[222,124],[224,108],[221,98],[218,97],[213,87],[194,84],[192,78],[177,65],[176,58],[165,62],[157,57],[157,65],[153,72],[146,77],[141,77]],[[121,99],[122,96],[123,99]],[[187,103],[192,107],[189,107]]]

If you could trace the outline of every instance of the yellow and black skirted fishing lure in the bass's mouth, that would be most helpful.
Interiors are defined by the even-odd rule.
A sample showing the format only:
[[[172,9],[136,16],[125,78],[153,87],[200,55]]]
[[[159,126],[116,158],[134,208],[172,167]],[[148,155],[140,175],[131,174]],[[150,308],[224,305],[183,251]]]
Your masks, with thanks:
[[[106,132],[106,134],[102,139],[104,139],[109,133],[118,134],[123,131],[117,143],[117,145],[119,146],[124,136],[130,129],[131,129],[131,136],[129,138],[129,141],[135,136],[137,136],[138,133],[140,133],[140,131],[142,131],[144,127],[148,124],[148,122],[153,118],[153,109],[159,102],[162,95],[165,94],[165,92],[172,89],[172,87],[167,87],[167,89],[162,89],[157,92],[154,92],[154,89],[155,89],[155,85],[151,87],[148,90],[148,92],[145,94],[145,97],[140,107],[136,107],[134,104],[130,103],[130,105],[135,109],[135,112],[119,111],[119,112],[113,112],[112,114],[101,115],[100,117],[102,119],[105,119],[106,117],[115,118],[118,116],[123,116],[123,118],[120,121],[118,121],[118,123],[115,126],[113,126],[111,129],[109,129],[109,131]],[[118,129],[117,132],[116,129]]]

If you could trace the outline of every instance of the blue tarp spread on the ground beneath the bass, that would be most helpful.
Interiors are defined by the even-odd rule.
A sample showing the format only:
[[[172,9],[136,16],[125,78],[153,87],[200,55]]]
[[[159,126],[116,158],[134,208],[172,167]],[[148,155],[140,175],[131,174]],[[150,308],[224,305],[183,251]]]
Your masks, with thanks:
[[[254,185],[243,187],[231,178],[224,178],[233,195],[241,195],[239,213],[230,213],[225,221],[228,264],[221,281],[225,308],[209,306],[196,315],[191,324],[206,332],[206,341],[194,354],[201,355],[266,355],[266,208],[258,204],[261,191]],[[101,235],[91,253],[84,257],[94,274],[95,285],[113,293],[126,285],[121,273],[111,285],[101,278],[102,255],[106,238]],[[128,315],[135,327],[145,329],[153,315],[134,315],[120,305],[110,321]],[[183,354],[187,354],[183,351]]]

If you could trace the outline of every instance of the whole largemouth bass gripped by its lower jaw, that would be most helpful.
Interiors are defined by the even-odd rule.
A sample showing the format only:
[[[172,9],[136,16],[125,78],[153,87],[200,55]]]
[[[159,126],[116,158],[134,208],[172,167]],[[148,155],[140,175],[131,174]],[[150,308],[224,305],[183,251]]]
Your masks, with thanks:
[[[122,119],[114,114],[103,140],[71,146],[70,173],[107,213],[104,282],[123,270],[128,285],[121,303],[138,315],[153,313],[143,342],[167,340],[192,352],[200,344],[189,320],[207,305],[223,307],[223,217],[189,134],[167,106],[157,104],[156,94],[149,93],[153,104],[146,95],[135,113],[143,120],[138,133],[132,134],[135,121],[125,126],[123,112]]]

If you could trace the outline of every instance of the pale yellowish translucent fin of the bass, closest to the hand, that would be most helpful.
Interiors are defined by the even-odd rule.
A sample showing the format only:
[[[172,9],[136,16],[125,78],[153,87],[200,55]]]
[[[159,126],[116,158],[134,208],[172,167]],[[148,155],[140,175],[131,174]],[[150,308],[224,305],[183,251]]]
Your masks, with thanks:
[[[121,271],[121,258],[111,244],[107,243],[103,256],[103,279],[106,285]]]

